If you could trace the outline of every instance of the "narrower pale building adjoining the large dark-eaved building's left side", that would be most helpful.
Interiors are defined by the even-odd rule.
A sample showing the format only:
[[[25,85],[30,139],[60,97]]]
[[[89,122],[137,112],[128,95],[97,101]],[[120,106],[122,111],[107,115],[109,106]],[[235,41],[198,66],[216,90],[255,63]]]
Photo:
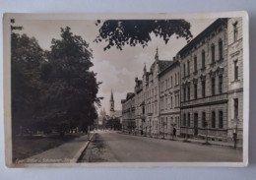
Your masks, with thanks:
[[[173,58],[159,74],[160,80],[160,134],[180,134],[180,70],[179,61]]]

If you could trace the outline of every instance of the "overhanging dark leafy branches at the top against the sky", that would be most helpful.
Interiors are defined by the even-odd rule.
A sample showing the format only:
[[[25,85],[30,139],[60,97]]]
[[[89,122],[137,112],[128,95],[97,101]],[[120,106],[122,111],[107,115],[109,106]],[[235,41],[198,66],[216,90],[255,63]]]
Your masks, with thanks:
[[[187,41],[192,37],[190,23],[185,20],[107,20],[101,23],[96,42],[106,41],[108,44],[104,50],[112,46],[122,50],[125,44],[135,46],[141,44],[143,47],[151,41],[151,33],[160,36],[167,43],[171,35],[176,38],[184,37]]]

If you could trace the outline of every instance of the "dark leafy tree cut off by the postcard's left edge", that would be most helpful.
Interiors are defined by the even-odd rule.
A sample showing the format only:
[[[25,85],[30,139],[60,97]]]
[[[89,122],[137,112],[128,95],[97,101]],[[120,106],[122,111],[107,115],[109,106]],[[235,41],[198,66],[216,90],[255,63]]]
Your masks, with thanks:
[[[13,133],[32,127],[32,119],[40,109],[40,67],[44,51],[34,37],[11,33],[11,86]]]

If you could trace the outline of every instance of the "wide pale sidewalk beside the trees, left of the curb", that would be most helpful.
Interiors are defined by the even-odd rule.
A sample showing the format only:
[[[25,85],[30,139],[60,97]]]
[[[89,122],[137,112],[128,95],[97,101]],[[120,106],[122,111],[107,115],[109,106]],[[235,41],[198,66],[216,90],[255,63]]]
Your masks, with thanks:
[[[55,149],[45,150],[29,158],[19,160],[18,163],[75,163],[83,150],[88,147],[93,136],[94,133],[91,133],[90,140],[88,135],[81,136]]]

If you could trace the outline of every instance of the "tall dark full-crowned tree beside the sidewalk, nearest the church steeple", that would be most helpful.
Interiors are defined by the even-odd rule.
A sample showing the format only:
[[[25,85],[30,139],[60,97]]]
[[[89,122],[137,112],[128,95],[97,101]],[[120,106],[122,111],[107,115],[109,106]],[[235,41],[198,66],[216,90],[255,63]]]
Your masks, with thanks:
[[[47,118],[51,126],[61,134],[69,128],[79,127],[87,131],[94,123],[98,86],[96,73],[90,71],[93,50],[70,28],[61,29],[61,39],[52,39],[47,52],[48,63],[42,71],[42,79],[48,85],[45,93]]]

